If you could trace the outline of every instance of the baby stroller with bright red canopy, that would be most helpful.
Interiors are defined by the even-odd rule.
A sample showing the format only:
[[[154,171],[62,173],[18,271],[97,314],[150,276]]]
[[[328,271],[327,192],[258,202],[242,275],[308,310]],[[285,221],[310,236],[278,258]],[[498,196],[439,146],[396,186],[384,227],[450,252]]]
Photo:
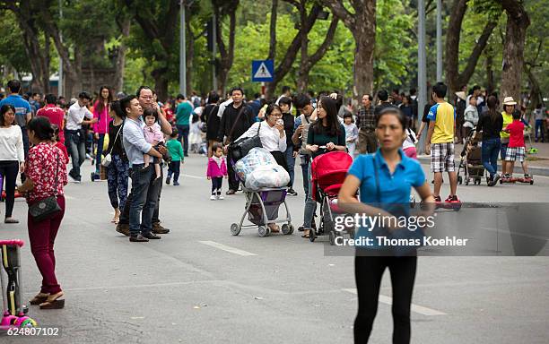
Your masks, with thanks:
[[[335,230],[337,217],[345,216],[345,212],[337,206],[337,194],[343,185],[347,171],[353,164],[353,158],[344,151],[332,151],[313,159],[311,163],[312,198],[320,203],[320,226],[311,228],[310,242],[317,236],[329,236],[330,245],[335,245],[337,236],[348,234],[354,236],[354,228]]]

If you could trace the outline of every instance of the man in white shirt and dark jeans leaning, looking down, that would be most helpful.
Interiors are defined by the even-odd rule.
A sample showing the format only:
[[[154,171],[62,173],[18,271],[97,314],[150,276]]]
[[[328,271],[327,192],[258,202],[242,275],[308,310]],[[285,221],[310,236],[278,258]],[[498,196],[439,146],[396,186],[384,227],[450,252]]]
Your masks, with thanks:
[[[97,122],[97,118],[93,118],[92,111],[87,107],[91,101],[90,94],[81,92],[78,95],[78,101],[69,107],[65,114],[65,145],[73,159],[73,168],[68,175],[76,182],[82,180],[80,167],[86,159],[86,138],[82,132],[82,125],[92,125]]]

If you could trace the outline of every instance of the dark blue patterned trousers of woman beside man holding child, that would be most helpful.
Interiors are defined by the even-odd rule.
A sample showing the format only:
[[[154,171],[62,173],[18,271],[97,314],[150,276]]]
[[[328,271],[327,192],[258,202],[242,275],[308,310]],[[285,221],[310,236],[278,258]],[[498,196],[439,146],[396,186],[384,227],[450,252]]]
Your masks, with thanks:
[[[127,177],[129,164],[120,156],[112,155],[112,161],[107,169],[107,188],[109,190],[110,205],[113,208],[124,209],[127,199]]]

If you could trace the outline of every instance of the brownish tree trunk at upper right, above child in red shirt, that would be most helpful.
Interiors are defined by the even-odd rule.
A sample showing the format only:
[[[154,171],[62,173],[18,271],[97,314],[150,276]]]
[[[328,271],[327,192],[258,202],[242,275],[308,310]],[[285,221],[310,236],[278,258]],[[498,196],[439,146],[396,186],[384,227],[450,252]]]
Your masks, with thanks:
[[[524,44],[530,20],[521,3],[503,0],[501,4],[507,12],[507,30],[505,31],[505,42],[503,44],[501,98],[513,97],[513,99],[520,103]]]

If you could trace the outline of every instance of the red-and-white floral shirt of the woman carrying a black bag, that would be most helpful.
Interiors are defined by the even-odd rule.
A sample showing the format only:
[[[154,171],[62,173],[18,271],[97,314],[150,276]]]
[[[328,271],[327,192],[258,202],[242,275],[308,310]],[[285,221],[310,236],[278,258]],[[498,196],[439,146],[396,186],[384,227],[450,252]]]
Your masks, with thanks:
[[[25,176],[32,180],[34,188],[28,193],[27,202],[43,200],[54,195],[56,168],[57,195],[62,195],[63,187],[67,184],[63,151],[47,142],[40,142],[29,150]]]

